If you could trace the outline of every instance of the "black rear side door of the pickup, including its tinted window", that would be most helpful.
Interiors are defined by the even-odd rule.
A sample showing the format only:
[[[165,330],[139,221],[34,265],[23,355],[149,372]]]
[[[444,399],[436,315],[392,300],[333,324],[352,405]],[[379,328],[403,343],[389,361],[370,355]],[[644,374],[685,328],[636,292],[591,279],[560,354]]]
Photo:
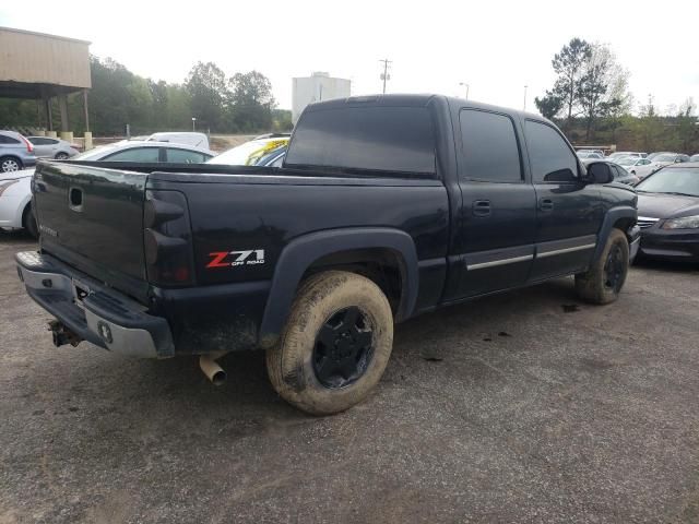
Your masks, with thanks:
[[[458,116],[461,221],[455,252],[460,299],[526,282],[534,257],[535,193],[526,181],[520,136],[510,116],[462,108]]]

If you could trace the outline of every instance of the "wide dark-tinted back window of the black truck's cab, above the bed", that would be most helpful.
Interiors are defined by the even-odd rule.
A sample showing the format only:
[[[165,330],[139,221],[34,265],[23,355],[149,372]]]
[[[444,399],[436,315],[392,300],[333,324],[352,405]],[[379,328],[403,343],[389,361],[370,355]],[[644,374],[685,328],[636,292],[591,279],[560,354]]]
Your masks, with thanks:
[[[425,107],[331,107],[304,112],[286,167],[434,174],[435,134]]]

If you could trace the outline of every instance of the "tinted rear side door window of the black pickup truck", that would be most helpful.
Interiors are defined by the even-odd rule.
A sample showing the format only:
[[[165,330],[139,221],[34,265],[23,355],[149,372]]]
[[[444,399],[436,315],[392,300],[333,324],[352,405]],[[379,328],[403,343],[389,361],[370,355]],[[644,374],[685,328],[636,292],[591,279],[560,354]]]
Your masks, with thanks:
[[[462,178],[488,182],[521,182],[520,150],[509,117],[475,109],[459,115],[463,142]]]

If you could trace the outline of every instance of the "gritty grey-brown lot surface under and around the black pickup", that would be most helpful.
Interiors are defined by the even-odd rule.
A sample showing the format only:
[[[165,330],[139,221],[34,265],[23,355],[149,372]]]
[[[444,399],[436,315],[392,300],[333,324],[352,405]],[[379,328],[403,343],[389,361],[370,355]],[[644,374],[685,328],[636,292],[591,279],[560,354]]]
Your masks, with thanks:
[[[0,522],[698,522],[699,271],[560,279],[414,319],[376,394],[310,418],[262,354],[56,349],[0,235]]]

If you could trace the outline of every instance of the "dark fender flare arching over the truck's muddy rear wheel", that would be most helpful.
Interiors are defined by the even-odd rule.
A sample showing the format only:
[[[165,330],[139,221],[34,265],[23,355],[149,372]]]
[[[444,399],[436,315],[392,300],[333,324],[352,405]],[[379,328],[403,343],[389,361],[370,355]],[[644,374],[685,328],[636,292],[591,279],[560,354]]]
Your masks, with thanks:
[[[419,274],[413,238],[405,231],[381,227],[343,228],[311,233],[292,240],[280,254],[264,308],[259,341],[273,346],[288,318],[298,284],[306,270],[321,257],[352,249],[395,251],[403,263],[403,297],[396,319],[410,317],[417,301]]]

